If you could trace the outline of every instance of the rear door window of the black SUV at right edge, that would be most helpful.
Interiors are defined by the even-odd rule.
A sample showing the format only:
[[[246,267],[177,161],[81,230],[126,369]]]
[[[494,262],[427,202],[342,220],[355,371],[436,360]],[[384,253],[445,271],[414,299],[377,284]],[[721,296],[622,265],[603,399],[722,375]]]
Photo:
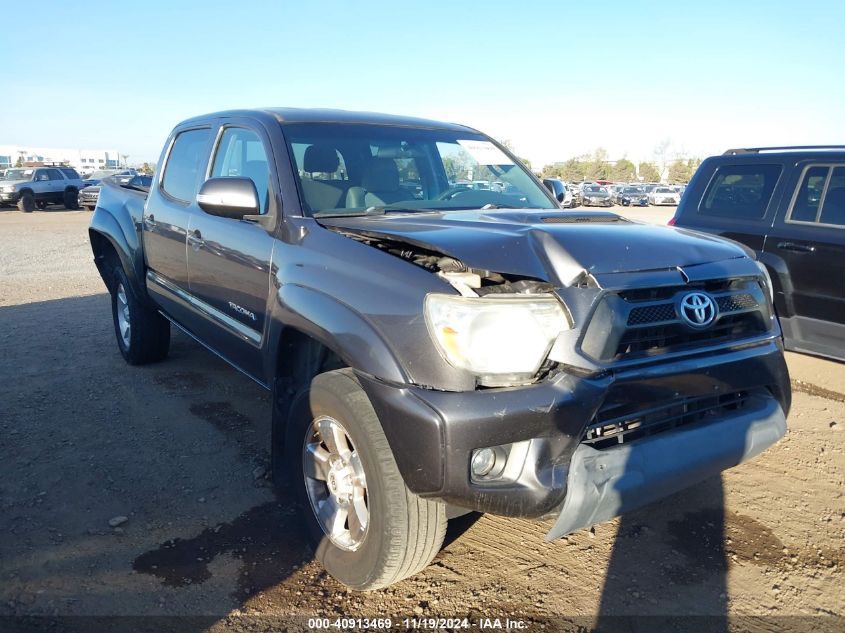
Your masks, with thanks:
[[[845,227],[845,165],[807,168],[788,221]]]

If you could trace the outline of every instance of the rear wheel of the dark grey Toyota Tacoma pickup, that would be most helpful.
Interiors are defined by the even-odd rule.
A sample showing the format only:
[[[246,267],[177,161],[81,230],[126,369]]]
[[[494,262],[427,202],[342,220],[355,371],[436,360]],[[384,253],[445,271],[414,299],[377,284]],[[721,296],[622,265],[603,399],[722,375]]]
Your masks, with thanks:
[[[115,266],[111,305],[117,347],[130,365],[164,360],[170,348],[170,322],[138,301],[131,288],[123,268]]]

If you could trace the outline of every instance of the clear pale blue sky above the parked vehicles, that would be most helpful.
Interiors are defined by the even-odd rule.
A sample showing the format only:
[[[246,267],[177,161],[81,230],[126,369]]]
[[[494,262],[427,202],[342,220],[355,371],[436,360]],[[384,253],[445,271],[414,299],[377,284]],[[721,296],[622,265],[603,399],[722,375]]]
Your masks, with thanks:
[[[0,144],[153,161],[178,121],[253,106],[466,123],[538,167],[845,143],[842,0],[37,6],[0,12]]]

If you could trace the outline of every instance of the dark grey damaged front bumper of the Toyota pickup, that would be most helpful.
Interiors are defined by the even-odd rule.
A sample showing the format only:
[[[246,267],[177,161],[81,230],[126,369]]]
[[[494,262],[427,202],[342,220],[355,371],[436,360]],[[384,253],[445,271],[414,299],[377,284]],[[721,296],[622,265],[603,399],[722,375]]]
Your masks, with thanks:
[[[560,372],[527,387],[446,392],[359,379],[411,491],[480,512],[556,516],[554,535],[748,459],[783,434],[791,397],[777,339],[601,374]],[[636,414],[655,403],[737,391],[754,395],[749,406],[618,446],[589,445],[587,429],[602,412]],[[517,460],[512,476],[474,479],[473,452],[502,446],[510,447],[508,463]]]

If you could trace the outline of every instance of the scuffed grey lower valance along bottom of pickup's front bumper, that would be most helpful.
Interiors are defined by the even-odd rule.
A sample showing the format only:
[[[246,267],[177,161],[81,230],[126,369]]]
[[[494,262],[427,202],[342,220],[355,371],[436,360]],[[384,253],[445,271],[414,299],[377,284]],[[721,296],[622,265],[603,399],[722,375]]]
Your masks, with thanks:
[[[604,450],[580,445],[572,456],[551,541],[674,494],[760,454],[786,433],[773,398],[704,426],[682,428]]]

